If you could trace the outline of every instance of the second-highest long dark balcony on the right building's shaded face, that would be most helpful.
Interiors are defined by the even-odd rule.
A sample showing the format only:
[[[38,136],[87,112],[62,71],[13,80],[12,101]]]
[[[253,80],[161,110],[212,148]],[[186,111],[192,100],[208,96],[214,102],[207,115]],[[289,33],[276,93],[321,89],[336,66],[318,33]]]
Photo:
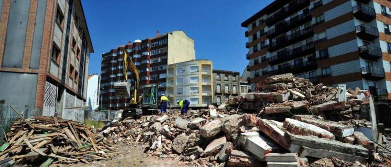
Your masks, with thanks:
[[[275,25],[275,28],[266,32],[266,37],[269,39],[274,38],[282,33],[288,32],[294,27],[298,27],[308,21],[311,21],[311,19],[311,13],[309,12],[300,14],[294,18],[291,18],[289,21],[283,21]]]

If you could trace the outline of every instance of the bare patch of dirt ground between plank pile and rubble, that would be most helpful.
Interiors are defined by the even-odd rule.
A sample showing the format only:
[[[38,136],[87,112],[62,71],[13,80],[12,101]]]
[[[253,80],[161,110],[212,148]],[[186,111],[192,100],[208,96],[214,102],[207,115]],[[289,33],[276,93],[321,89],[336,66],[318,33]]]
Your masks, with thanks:
[[[96,161],[91,164],[77,163],[72,167],[183,167],[186,163],[179,159],[159,158],[151,154],[143,153],[144,148],[140,146],[129,146],[117,144],[115,147],[122,152],[117,158],[106,161]]]

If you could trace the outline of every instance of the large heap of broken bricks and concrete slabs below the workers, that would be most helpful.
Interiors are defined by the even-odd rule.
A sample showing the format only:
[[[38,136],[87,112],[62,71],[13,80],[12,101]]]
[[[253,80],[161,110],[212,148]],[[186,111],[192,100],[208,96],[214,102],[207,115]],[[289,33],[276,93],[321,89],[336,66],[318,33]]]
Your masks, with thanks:
[[[368,91],[348,89],[346,102],[339,102],[338,88],[312,85],[292,74],[271,76],[260,85],[264,90],[218,108],[128,117],[100,133],[113,143],[144,146],[145,153],[189,166],[333,167],[390,160],[388,155],[374,159],[377,145],[355,131],[360,124],[371,126],[362,119],[362,113],[369,114]],[[245,114],[251,107],[258,108]]]

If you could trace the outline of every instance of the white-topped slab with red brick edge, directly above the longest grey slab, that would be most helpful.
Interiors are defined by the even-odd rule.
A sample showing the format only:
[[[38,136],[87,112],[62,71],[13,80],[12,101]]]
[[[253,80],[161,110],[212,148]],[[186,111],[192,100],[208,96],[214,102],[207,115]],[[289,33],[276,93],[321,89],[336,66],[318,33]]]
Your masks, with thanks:
[[[283,127],[295,135],[312,135],[326,139],[335,139],[335,136],[330,131],[324,130],[312,124],[298,121],[296,119],[286,118]]]

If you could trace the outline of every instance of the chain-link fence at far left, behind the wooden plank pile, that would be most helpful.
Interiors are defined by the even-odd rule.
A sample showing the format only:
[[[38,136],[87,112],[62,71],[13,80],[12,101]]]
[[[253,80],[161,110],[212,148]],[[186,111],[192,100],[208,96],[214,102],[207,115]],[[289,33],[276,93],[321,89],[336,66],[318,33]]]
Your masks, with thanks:
[[[28,106],[14,107],[12,105],[5,105],[4,101],[0,101],[0,144],[4,142],[2,139],[4,139],[4,135],[9,130],[13,121],[20,119],[19,115],[16,114],[15,111],[18,112],[24,119],[41,116],[41,111],[39,109],[32,110]]]

